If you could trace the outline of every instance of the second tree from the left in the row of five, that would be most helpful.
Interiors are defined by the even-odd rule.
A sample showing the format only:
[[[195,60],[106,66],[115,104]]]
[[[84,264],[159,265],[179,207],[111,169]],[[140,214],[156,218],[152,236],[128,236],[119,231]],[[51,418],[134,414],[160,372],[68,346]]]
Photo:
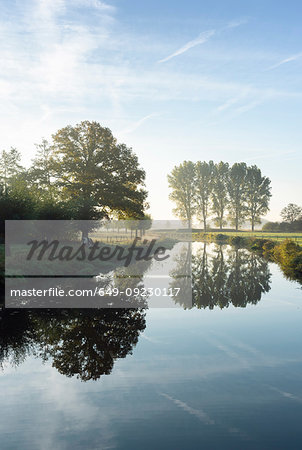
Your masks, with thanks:
[[[203,229],[207,230],[207,219],[211,210],[211,197],[214,184],[213,161],[198,161],[196,170],[196,203],[197,215],[203,221]]]

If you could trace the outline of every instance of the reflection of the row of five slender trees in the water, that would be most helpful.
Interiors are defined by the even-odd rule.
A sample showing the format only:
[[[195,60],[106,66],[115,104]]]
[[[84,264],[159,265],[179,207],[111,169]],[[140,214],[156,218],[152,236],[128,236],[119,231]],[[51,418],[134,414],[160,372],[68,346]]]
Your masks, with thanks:
[[[216,245],[209,251],[208,247],[204,243],[192,256],[193,306],[210,309],[229,305],[245,307],[249,303],[256,304],[262,294],[270,290],[271,274],[263,258],[244,249]],[[183,283],[177,279],[177,273],[183,273],[185,260],[182,255],[171,274],[174,277],[171,285],[181,288],[181,295],[174,297],[181,305],[188,305],[190,295],[188,286],[184,290]]]

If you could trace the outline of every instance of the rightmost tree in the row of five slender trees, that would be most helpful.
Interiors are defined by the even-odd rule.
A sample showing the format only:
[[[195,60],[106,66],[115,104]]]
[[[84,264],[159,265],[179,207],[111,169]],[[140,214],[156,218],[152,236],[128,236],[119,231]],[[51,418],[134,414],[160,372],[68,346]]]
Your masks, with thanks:
[[[246,172],[246,212],[247,218],[251,221],[252,231],[255,224],[261,223],[261,216],[269,209],[269,199],[271,197],[271,181],[261,174],[257,166],[247,168]]]

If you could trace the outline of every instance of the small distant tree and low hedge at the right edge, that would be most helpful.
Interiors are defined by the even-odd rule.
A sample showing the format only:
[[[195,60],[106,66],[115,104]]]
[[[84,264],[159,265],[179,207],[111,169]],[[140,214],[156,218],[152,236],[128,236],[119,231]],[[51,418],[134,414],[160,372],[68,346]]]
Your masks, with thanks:
[[[281,222],[267,222],[263,225],[263,231],[302,231],[302,208],[294,203],[289,203],[281,211]]]

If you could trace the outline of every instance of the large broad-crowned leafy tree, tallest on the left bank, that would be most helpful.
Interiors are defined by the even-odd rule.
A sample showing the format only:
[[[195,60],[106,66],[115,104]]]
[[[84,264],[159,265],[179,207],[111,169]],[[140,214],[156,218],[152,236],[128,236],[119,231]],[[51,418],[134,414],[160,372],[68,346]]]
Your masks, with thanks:
[[[74,218],[98,219],[113,211],[142,218],[147,192],[136,155],[109,128],[84,121],[53,135],[52,169]]]

